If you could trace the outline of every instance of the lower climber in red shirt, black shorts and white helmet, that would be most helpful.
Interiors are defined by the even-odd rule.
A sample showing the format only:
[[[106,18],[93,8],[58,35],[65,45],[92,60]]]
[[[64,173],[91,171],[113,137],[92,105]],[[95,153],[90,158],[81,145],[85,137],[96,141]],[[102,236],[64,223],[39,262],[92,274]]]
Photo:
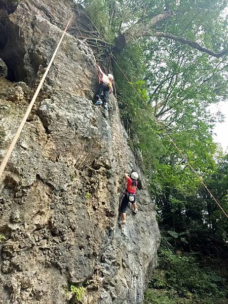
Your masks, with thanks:
[[[128,203],[132,203],[132,206],[134,208],[134,213],[136,214],[138,212],[137,205],[136,205],[136,188],[138,184],[138,173],[132,172],[131,177],[128,176],[126,173],[124,174],[124,177],[127,181],[127,189],[125,191],[124,198],[121,203],[121,224],[126,225],[126,208],[128,206]]]

